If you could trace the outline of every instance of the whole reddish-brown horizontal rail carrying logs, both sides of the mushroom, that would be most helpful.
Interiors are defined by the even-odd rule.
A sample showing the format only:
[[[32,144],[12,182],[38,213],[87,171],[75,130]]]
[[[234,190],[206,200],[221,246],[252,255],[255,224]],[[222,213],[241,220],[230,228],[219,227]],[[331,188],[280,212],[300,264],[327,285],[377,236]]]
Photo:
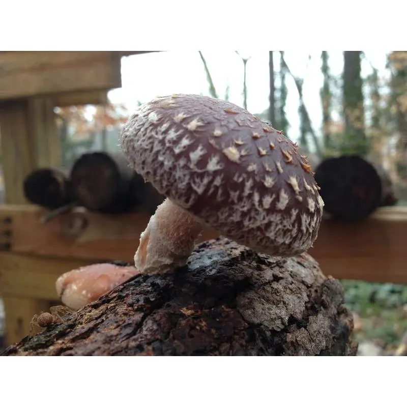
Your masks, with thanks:
[[[133,261],[140,232],[149,217],[139,213],[98,215],[86,213],[88,225],[77,235],[64,230],[80,211],[46,224],[35,206],[0,206],[0,220],[13,219],[13,252],[78,259]],[[199,241],[217,237],[207,230]],[[381,208],[358,224],[324,220],[309,253],[327,275],[377,282],[407,283],[407,208]]]

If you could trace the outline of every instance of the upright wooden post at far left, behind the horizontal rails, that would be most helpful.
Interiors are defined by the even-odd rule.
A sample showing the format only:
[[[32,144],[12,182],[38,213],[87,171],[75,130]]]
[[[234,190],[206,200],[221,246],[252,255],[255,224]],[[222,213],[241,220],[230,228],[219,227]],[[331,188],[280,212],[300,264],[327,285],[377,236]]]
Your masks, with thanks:
[[[33,97],[0,104],[0,131],[6,202],[26,203],[23,182],[28,173],[41,166],[61,165],[52,99]],[[3,302],[7,343],[27,335],[32,316],[49,307],[46,300],[7,294]]]

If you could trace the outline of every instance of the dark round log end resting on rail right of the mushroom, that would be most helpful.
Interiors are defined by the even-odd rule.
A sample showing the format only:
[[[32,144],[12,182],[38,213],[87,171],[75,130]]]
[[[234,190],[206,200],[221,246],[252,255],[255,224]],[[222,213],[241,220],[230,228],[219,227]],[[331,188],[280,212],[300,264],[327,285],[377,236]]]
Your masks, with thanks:
[[[385,171],[357,155],[323,160],[316,167],[315,180],[324,210],[338,220],[360,221],[397,202]]]

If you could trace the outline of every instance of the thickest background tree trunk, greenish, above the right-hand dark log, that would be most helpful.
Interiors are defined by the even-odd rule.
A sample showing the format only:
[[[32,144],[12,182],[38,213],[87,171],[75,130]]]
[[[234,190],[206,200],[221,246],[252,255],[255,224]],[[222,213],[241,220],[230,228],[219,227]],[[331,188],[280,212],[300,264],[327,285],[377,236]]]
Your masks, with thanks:
[[[365,135],[363,80],[360,65],[361,51],[344,51],[343,113],[345,139],[343,153],[365,155],[368,152]]]

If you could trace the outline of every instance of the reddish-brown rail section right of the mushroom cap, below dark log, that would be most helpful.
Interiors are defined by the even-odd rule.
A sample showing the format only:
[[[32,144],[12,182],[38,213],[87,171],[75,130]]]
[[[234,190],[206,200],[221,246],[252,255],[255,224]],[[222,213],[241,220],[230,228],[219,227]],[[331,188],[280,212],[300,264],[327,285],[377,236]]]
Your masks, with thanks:
[[[361,223],[325,220],[309,250],[326,275],[407,283],[407,208],[377,210]]]

